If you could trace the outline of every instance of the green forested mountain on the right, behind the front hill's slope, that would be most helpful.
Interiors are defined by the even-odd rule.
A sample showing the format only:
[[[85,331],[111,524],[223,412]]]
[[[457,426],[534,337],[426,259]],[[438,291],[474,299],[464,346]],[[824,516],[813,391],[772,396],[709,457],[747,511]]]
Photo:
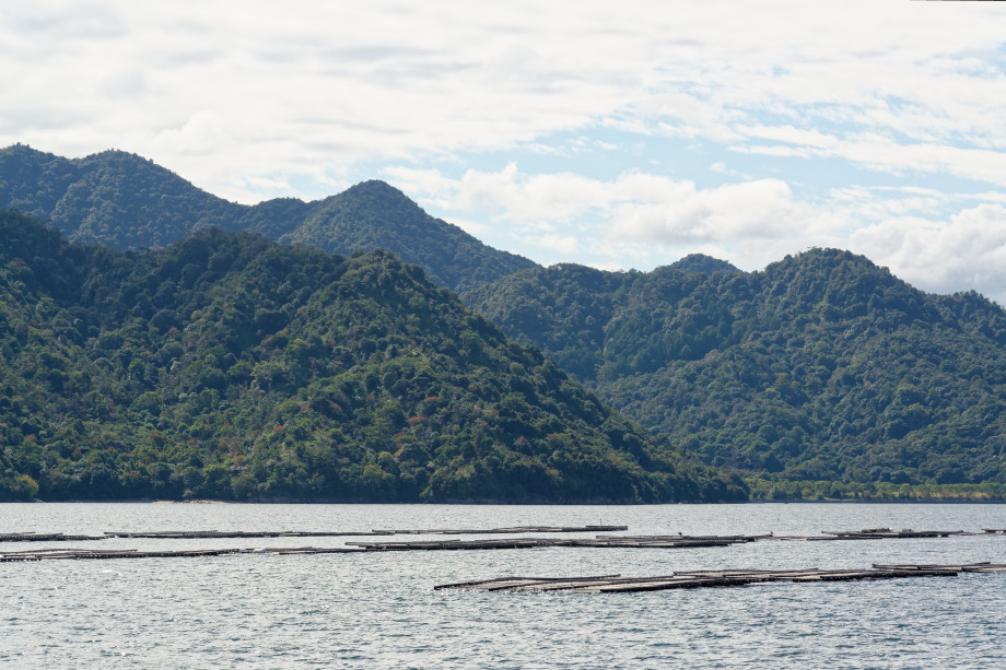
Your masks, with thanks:
[[[650,273],[531,269],[466,302],[779,495],[1006,482],[1006,314],[973,292],[928,295],[815,249],[751,273],[697,257]]]

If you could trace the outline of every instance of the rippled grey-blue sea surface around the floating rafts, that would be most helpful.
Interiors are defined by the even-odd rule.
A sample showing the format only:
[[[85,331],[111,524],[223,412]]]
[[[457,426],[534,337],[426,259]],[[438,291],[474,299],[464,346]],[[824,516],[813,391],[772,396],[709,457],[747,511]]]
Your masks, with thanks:
[[[1001,505],[0,505],[0,532],[624,524],[631,534],[1006,527]],[[408,537],[418,540],[423,537]],[[0,543],[332,546],[352,538]],[[623,595],[434,591],[504,575],[1006,563],[1006,537],[0,563],[16,668],[1006,668],[1006,574]]]

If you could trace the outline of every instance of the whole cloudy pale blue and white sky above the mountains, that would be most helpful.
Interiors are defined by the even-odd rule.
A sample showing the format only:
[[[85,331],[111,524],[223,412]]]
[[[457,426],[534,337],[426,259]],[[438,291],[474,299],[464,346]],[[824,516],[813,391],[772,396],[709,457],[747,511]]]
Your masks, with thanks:
[[[1006,305],[1006,3],[34,0],[0,146],[245,203],[366,179],[540,263],[838,247]]]

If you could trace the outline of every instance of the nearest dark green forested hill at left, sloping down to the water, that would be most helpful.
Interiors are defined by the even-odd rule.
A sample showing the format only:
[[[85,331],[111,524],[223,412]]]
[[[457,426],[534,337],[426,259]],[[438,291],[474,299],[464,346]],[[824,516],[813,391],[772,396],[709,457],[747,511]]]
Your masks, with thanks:
[[[0,499],[745,496],[384,251],[4,211],[0,336]]]

